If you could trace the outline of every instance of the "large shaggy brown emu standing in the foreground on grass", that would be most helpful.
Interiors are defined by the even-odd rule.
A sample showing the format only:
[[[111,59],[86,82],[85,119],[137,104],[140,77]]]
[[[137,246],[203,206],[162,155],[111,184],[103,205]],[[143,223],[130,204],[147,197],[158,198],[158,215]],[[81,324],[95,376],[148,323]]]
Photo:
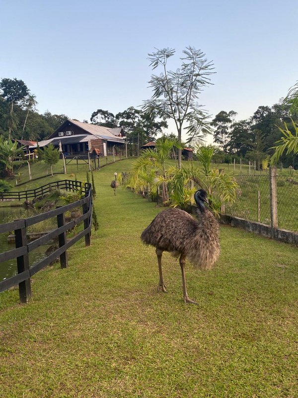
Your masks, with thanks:
[[[161,289],[167,293],[161,267],[162,252],[167,251],[173,256],[180,256],[184,302],[193,304],[197,302],[188,298],[186,291],[184,273],[186,257],[195,268],[209,270],[213,268],[220,255],[219,226],[212,212],[204,205],[204,202],[208,203],[206,191],[197,191],[195,201],[198,206],[196,210],[198,220],[186,211],[171,208],[157,214],[141,235],[144,243],[156,247],[159,269],[157,291]]]

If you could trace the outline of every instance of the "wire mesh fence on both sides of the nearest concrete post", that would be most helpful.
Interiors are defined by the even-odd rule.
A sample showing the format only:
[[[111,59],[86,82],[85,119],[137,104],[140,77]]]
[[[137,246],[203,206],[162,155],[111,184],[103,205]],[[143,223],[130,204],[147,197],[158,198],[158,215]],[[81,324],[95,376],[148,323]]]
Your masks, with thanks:
[[[269,175],[235,176],[238,183],[236,201],[225,206],[225,213],[236,217],[271,224]],[[298,176],[278,175],[278,227],[298,231]]]

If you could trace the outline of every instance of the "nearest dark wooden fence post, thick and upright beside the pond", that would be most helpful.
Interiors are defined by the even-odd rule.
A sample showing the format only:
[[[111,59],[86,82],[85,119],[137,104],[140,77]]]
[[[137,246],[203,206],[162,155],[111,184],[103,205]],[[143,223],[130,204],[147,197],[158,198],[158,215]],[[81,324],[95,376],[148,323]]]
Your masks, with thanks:
[[[27,229],[26,221],[24,220],[24,227],[20,229],[15,229],[15,248],[27,245]],[[29,270],[29,256],[28,252],[16,258],[17,273]],[[19,297],[20,301],[23,303],[28,302],[31,298],[31,281],[30,278],[19,283]]]

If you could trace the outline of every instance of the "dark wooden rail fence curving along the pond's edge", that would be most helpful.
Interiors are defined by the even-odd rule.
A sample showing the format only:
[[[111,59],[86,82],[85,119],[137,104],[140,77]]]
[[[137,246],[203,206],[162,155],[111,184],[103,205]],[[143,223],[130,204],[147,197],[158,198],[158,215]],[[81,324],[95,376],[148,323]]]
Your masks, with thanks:
[[[68,265],[67,249],[69,249],[75,242],[85,237],[85,246],[90,246],[90,235],[92,226],[92,189],[91,184],[85,183],[82,186],[80,181],[63,180],[55,183],[48,184],[49,190],[46,187],[39,187],[35,191],[35,196],[44,195],[50,192],[52,188],[66,189],[75,191],[78,188],[82,189],[85,197],[65,206],[57,207],[54,210],[47,211],[43,214],[38,214],[33,217],[8,222],[7,224],[0,224],[0,233],[9,232],[14,230],[15,234],[15,249],[8,250],[0,254],[0,265],[3,261],[16,258],[17,262],[17,275],[0,281],[0,292],[11,288],[14,285],[19,285],[19,297],[21,302],[27,302],[31,297],[31,282],[30,278],[38,271],[52,263],[58,256],[60,256],[61,268],[66,268]],[[43,189],[42,189],[43,188]],[[29,191],[27,191],[28,193]],[[43,194],[41,194],[43,192]],[[21,194],[21,193],[20,193]],[[23,194],[23,193],[22,193]],[[23,197],[22,197],[23,198]],[[65,222],[65,212],[74,209],[75,207],[82,207],[82,215]],[[35,239],[32,242],[27,242],[27,227],[36,224],[40,221],[46,220],[51,217],[57,217],[57,229],[50,231],[46,235]],[[84,229],[78,232],[68,242],[66,240],[66,232],[72,229],[75,225],[83,221]],[[30,267],[29,253],[37,247],[48,242],[50,239],[58,237],[59,248],[55,250],[48,257],[40,260],[37,264]]]

